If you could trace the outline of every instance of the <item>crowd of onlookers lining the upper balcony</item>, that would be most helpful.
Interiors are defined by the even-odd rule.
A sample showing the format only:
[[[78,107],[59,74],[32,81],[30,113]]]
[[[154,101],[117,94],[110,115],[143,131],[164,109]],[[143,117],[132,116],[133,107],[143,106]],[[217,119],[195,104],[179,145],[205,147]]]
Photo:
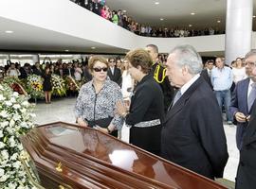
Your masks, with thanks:
[[[159,38],[182,38],[193,36],[217,35],[224,34],[225,31],[219,30],[217,27],[205,27],[202,29],[191,29],[178,26],[156,27],[147,26],[137,23],[131,16],[127,15],[124,10],[111,10],[106,5],[105,0],[71,0],[76,4],[88,9],[102,18],[121,26],[137,35]]]

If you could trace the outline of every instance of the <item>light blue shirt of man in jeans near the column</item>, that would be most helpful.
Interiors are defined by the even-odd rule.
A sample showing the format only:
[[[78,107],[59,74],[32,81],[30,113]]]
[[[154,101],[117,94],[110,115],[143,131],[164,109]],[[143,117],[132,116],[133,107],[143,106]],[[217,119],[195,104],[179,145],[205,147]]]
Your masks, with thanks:
[[[210,79],[214,91],[229,90],[233,81],[232,71],[227,66],[222,69],[215,67],[211,71]]]

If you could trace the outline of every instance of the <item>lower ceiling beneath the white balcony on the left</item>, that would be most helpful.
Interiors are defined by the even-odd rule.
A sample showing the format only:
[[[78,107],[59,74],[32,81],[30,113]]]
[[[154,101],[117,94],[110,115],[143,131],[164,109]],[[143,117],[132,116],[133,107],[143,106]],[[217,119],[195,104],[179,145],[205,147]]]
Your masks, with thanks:
[[[15,31],[6,33],[5,30]],[[96,47],[92,49],[91,47]],[[45,28],[30,26],[0,17],[0,52],[61,52],[61,53],[123,53],[124,50],[102,43],[69,36]],[[69,49],[67,52],[66,50]]]

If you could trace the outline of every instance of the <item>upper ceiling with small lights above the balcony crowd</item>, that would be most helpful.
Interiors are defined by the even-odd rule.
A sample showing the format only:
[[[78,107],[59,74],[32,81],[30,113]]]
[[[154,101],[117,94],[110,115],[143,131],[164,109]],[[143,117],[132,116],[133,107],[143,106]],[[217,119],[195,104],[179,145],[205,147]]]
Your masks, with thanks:
[[[155,5],[155,2],[159,4]],[[256,13],[256,0],[253,3],[253,12]],[[225,29],[226,4],[227,0],[107,0],[110,9],[124,9],[140,24],[162,27],[192,25],[194,29],[210,26]],[[160,21],[160,18],[164,20]],[[255,20],[253,30],[256,30]]]

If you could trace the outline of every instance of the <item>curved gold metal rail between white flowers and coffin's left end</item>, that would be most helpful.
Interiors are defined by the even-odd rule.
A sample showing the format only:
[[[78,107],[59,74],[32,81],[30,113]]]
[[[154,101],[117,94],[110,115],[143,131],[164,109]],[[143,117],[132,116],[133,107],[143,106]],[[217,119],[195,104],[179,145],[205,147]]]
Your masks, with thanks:
[[[29,155],[27,152],[25,152],[24,154],[22,154],[20,156],[20,161],[23,164],[23,167],[27,173],[27,177],[28,177],[28,180],[30,181],[30,183],[38,189],[46,189],[44,186],[42,186],[40,183],[38,183],[38,181],[34,180],[32,174],[30,173],[30,170],[29,170],[30,167],[27,166],[28,162],[30,161],[30,158],[29,158]]]

